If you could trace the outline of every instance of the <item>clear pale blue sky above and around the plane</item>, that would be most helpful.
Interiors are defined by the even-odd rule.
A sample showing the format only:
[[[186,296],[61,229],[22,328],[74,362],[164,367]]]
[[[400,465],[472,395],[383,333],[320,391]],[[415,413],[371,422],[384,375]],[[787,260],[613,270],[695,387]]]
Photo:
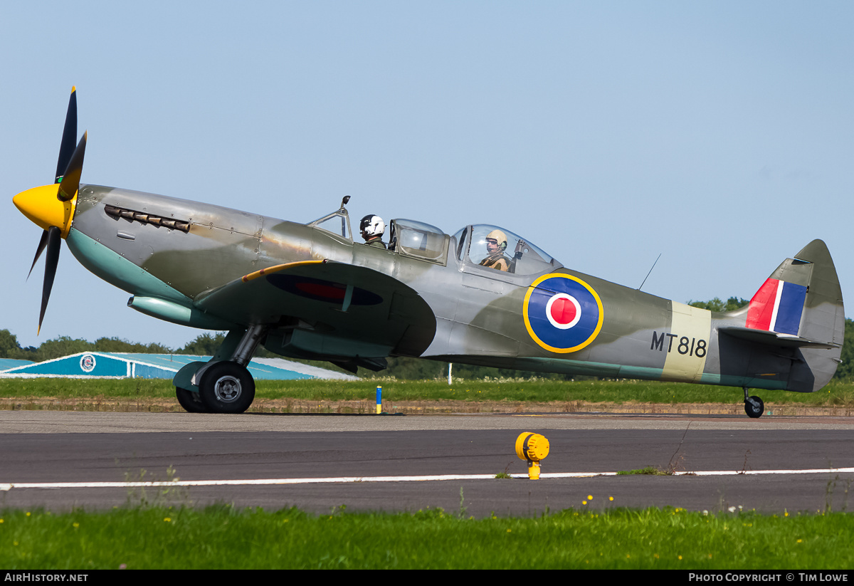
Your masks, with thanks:
[[[64,248],[41,335],[39,229],[72,85],[82,181],[307,222],[490,223],[680,302],[750,298],[822,238],[854,290],[854,4],[3,3],[3,314],[179,347]],[[851,315],[851,311],[848,312]]]

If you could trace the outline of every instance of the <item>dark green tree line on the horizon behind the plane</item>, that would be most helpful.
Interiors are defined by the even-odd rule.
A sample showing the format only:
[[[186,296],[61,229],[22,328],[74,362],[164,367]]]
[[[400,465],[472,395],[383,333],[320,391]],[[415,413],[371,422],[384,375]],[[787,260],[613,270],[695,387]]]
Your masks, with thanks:
[[[718,297],[715,297],[707,302],[688,302],[695,308],[709,309],[710,311],[733,311],[746,306],[748,301],[740,297],[730,297],[726,302],[723,302]],[[225,339],[223,332],[203,333],[196,336],[195,339],[184,344],[182,348],[170,349],[167,346],[158,343],[133,343],[118,337],[102,337],[95,342],[89,342],[81,338],[72,338],[67,336],[56,337],[52,340],[47,340],[38,348],[33,346],[21,348],[18,343],[18,338],[9,330],[0,330],[0,358],[14,358],[19,360],[32,360],[33,362],[41,362],[43,360],[53,360],[62,356],[78,354],[79,352],[132,352],[138,354],[184,354],[184,355],[202,355],[210,356],[219,348],[219,344]],[[260,358],[278,358],[278,355],[259,346],[255,355]],[[836,369],[834,378],[849,379],[854,378],[854,322],[851,319],[845,319],[845,342],[842,346],[842,363]],[[295,359],[289,359],[295,360]],[[330,364],[329,362],[320,360],[295,360],[304,364],[329,368],[330,370],[341,371],[340,368]],[[433,378],[447,378],[447,362],[436,362],[434,360],[424,360],[422,358],[405,358],[392,357],[389,358],[389,367],[381,372],[377,372],[377,376],[395,377],[401,380],[424,380]],[[550,378],[554,380],[578,380],[577,375],[555,374],[548,372],[529,372],[517,371],[510,368],[490,368],[488,366],[470,366],[465,364],[454,364],[452,367],[454,378],[466,379],[483,379],[483,378]],[[371,377],[374,372],[361,369],[360,376]]]

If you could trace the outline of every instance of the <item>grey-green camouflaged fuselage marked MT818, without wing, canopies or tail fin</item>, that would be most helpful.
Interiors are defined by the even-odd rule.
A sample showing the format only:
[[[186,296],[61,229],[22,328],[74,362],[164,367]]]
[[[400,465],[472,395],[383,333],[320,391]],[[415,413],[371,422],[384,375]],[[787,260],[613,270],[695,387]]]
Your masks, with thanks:
[[[202,310],[200,300],[266,267],[328,260],[395,278],[427,303],[435,317],[435,331],[424,334],[430,337],[429,344],[414,352],[411,344],[389,347],[392,355],[766,389],[814,390],[826,382],[793,384],[793,364],[800,350],[781,352],[717,335],[722,326],[744,325],[745,312],[717,314],[692,308],[554,261],[533,265],[527,274],[482,267],[475,253],[469,254],[465,234],[463,230],[446,236],[444,256],[424,261],[402,254],[401,247],[392,251],[354,243],[346,230],[339,234],[201,202],[81,185],[67,243],[85,267],[135,298],[186,308],[184,313],[170,313],[142,307],[143,302],[135,307],[184,325],[247,327],[251,315],[211,314]],[[569,334],[561,331],[561,324],[544,314],[547,308],[554,314],[553,306],[548,306],[553,298],[571,299],[588,323],[573,325],[566,330]],[[133,301],[130,304],[134,307]],[[569,302],[564,304],[573,311]],[[306,309],[300,312],[289,316],[289,308],[281,308],[273,330],[286,325],[289,331],[298,331],[300,320],[310,317]],[[329,325],[327,337],[336,336],[334,326]],[[312,329],[317,331],[317,325]],[[358,347],[358,340],[349,339],[354,336],[342,334],[352,344],[338,348],[346,352]],[[290,353],[285,346],[270,347],[306,355]]]

